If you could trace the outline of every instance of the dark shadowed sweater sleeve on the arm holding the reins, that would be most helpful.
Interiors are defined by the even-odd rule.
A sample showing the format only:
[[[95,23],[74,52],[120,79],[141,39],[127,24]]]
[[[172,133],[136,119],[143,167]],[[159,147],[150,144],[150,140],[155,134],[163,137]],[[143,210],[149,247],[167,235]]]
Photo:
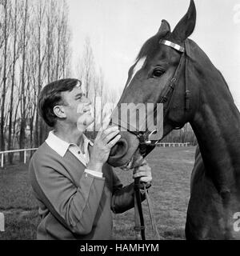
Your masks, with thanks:
[[[113,170],[113,184],[111,210],[113,210],[114,214],[122,214],[134,207],[134,182],[128,186],[122,186],[122,182],[120,182]],[[146,198],[144,194],[141,197],[142,201]]]

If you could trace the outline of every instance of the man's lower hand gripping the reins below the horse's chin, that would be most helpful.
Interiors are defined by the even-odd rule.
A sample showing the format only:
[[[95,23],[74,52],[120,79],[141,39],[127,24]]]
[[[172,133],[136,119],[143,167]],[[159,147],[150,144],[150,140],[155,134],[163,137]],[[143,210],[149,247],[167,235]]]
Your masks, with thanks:
[[[147,164],[146,160],[142,161],[141,166],[134,168],[133,178],[140,178],[140,182],[146,183],[146,187],[150,186],[152,181],[151,167]]]

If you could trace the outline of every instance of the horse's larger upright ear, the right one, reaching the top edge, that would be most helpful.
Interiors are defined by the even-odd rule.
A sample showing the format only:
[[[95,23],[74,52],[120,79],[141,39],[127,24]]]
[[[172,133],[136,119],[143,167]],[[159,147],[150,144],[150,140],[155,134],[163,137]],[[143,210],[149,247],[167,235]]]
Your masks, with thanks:
[[[174,39],[183,42],[188,38],[194,31],[196,24],[196,7],[194,0],[190,0],[190,6],[183,16],[183,18],[175,26],[172,36]]]

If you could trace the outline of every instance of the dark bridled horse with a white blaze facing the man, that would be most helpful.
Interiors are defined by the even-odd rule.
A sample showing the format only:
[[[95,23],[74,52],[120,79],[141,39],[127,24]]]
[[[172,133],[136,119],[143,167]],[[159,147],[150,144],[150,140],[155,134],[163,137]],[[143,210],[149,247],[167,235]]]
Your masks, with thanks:
[[[150,102],[156,107],[161,102],[162,138],[190,123],[198,147],[190,178],[186,239],[239,239],[240,114],[220,71],[189,38],[195,24],[193,0],[172,32],[162,20],[158,33],[144,43],[130,67],[116,108],[122,103]],[[156,144],[147,124],[144,131],[124,128],[108,163],[134,168]]]

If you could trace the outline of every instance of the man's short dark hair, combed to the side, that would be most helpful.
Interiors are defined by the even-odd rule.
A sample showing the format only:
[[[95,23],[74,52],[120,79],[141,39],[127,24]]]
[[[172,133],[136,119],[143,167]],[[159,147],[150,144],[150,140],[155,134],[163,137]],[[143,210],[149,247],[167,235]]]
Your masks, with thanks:
[[[61,79],[50,82],[43,87],[38,98],[38,111],[40,116],[50,127],[54,127],[57,122],[57,116],[54,114],[54,106],[64,104],[61,93],[71,91],[81,81],[78,79]]]

